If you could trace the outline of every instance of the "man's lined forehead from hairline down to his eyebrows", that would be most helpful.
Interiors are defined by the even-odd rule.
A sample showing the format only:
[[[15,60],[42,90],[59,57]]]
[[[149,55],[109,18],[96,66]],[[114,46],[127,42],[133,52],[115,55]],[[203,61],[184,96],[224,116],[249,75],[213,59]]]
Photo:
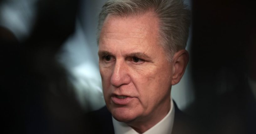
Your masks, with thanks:
[[[125,17],[108,15],[102,26],[99,45],[110,40],[119,44],[123,41],[126,45],[141,45],[145,41],[148,45],[158,44],[158,23],[159,20],[153,12]]]

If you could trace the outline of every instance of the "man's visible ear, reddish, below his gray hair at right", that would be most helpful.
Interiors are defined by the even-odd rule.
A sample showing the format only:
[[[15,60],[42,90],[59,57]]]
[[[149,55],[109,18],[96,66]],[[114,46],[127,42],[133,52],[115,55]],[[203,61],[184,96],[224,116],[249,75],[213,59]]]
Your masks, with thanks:
[[[188,64],[189,55],[185,49],[182,49],[176,52],[172,59],[173,73],[172,73],[172,85],[175,85],[180,82],[181,77],[183,76],[186,66]]]

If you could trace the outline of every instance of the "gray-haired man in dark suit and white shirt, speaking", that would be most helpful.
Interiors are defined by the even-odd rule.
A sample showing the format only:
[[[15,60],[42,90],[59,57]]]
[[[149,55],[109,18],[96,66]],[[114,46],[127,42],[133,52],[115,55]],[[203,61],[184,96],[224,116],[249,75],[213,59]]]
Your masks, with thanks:
[[[112,117],[106,107],[93,112],[96,128],[116,134],[192,133],[170,96],[189,59],[189,10],[183,1],[109,0],[99,18],[99,68]]]

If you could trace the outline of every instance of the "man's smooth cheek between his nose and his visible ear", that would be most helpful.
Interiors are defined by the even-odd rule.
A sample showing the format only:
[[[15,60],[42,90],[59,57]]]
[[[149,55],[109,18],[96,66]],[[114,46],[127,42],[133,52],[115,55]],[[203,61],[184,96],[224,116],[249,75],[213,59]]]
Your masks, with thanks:
[[[166,96],[171,85],[170,68],[151,67],[137,77],[137,89],[144,107],[154,107],[160,98]]]

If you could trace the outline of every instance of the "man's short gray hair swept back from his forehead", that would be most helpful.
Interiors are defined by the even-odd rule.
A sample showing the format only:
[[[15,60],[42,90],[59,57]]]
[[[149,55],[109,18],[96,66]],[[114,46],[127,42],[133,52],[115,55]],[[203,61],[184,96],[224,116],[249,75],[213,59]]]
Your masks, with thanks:
[[[159,18],[160,45],[168,60],[185,49],[189,35],[190,10],[183,0],[108,0],[99,15],[97,41],[108,14],[128,16],[153,11]]]

